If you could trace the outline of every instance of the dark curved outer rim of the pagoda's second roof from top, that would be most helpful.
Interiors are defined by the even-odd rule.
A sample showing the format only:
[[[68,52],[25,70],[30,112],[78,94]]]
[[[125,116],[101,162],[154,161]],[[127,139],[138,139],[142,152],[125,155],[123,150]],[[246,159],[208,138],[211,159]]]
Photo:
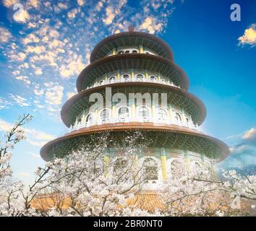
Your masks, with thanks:
[[[145,61],[148,63],[144,64]],[[150,61],[155,62],[155,66],[150,65]],[[161,71],[163,69],[161,65],[165,64],[169,66],[171,69],[174,69],[179,73],[181,77],[180,82],[182,83],[182,87],[185,90],[189,88],[189,79],[185,71],[179,67],[178,65],[174,64],[170,59],[163,58],[161,56],[153,56],[145,53],[124,53],[120,55],[114,56],[106,56],[94,61],[92,64],[88,65],[83,69],[80,75],[77,78],[77,91],[80,92],[82,89],[82,82],[85,81],[86,76],[93,71],[96,67],[102,66],[103,64],[108,67],[109,71],[116,71],[117,69],[140,69],[141,66],[144,66],[145,69],[155,69],[155,71]],[[130,66],[129,66],[130,65]],[[101,68],[102,74],[106,73],[105,68]],[[164,70],[163,70],[164,71]]]

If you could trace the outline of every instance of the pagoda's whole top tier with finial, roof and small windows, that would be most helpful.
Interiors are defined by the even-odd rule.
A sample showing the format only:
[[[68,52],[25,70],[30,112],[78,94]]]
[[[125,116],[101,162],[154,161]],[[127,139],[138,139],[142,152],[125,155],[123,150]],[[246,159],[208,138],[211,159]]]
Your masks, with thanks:
[[[90,62],[121,53],[146,53],[174,61],[174,53],[165,41],[155,35],[134,31],[129,27],[128,32],[121,32],[101,40],[93,49]]]

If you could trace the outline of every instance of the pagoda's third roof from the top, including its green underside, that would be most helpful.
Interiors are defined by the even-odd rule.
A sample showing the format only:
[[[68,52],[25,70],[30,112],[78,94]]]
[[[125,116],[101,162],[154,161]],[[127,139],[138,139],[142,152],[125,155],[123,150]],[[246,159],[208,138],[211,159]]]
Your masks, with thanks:
[[[127,93],[141,93],[143,95],[146,92],[152,92],[158,93],[159,97],[161,97],[161,93],[166,93],[168,104],[185,110],[189,115],[191,115],[194,123],[198,123],[198,125],[200,125],[205,120],[205,105],[198,97],[185,90],[153,82],[117,82],[108,84],[107,86],[103,85],[93,87],[79,92],[77,95],[69,98],[61,108],[61,119],[65,125],[69,127],[71,124],[74,124],[77,115],[82,113],[85,108],[89,108],[90,105],[92,105],[92,103],[89,102],[90,94],[98,92],[105,98],[106,87],[111,87],[112,95],[117,92],[122,92],[126,94],[127,97],[129,96]],[[159,99],[159,102],[160,100],[161,99]]]

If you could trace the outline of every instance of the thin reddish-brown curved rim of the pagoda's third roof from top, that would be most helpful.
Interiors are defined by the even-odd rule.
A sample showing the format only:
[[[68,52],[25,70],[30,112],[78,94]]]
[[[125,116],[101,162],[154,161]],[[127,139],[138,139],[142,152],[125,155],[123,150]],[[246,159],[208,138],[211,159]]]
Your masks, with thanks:
[[[69,100],[64,103],[64,105],[61,108],[61,119],[64,122],[64,124],[69,127],[69,120],[67,118],[67,114],[69,112],[69,109],[74,105],[74,103],[77,102],[77,100],[82,99],[83,97],[86,97],[90,95],[93,92],[98,92],[99,90],[104,90],[106,87],[129,87],[129,86],[141,86],[141,87],[161,87],[163,90],[171,90],[173,92],[177,92],[181,95],[184,95],[185,97],[189,98],[190,100],[194,101],[195,104],[198,106],[200,110],[200,119],[197,121],[199,125],[202,124],[202,122],[205,120],[206,117],[206,108],[204,103],[196,97],[195,95],[192,95],[191,93],[182,90],[178,87],[172,87],[168,86],[166,84],[158,84],[158,83],[153,83],[153,82],[118,82],[118,83],[113,83],[113,84],[107,84],[107,85],[102,85],[98,87],[93,87],[88,90],[83,90],[82,92],[77,93],[77,95],[72,96],[69,98]]]

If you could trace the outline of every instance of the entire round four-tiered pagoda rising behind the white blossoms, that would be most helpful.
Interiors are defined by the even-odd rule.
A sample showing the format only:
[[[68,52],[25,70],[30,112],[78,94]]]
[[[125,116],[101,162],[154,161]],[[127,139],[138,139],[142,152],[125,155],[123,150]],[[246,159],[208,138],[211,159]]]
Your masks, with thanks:
[[[142,150],[140,162],[160,167],[151,174],[154,183],[166,180],[172,163],[181,157],[189,165],[223,160],[229,148],[201,131],[205,105],[188,89],[187,74],[174,63],[174,53],[161,38],[132,27],[128,32],[108,36],[95,46],[90,65],[80,73],[78,93],[61,109],[67,134],[49,141],[40,155],[51,161],[67,156],[105,132],[111,140],[118,141],[140,131],[153,140]],[[110,103],[106,100],[109,92]],[[90,96],[94,93],[103,96],[101,107],[92,107]],[[115,97],[118,94],[127,98],[129,94],[135,98],[142,95],[142,100],[120,102]],[[153,100],[154,94],[163,97]],[[111,144],[106,155],[116,156]]]

